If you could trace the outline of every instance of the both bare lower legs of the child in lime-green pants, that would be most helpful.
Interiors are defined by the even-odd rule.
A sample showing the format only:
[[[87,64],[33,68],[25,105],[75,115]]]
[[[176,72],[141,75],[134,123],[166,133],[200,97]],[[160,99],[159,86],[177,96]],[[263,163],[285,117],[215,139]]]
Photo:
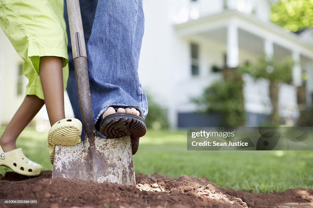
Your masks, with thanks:
[[[62,58],[55,56],[40,57],[39,75],[45,100],[39,99],[35,95],[25,97],[1,136],[0,144],[5,152],[16,149],[15,142],[18,135],[44,104],[46,104],[51,125],[65,118]]]

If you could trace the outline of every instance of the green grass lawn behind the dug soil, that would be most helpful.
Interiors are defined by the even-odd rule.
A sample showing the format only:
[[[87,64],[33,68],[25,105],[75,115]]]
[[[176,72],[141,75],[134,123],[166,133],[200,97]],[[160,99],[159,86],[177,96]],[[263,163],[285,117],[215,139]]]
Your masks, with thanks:
[[[17,146],[44,170],[52,170],[46,135],[27,128]],[[243,191],[313,188],[313,151],[187,151],[187,131],[148,130],[133,160],[136,173],[206,177],[218,186]],[[0,167],[1,174],[8,170]]]

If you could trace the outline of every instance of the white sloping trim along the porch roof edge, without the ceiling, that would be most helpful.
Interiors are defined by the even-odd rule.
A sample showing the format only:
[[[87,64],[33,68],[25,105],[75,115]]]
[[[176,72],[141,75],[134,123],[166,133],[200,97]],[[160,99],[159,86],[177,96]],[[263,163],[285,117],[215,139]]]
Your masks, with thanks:
[[[253,15],[247,15],[237,10],[225,10],[215,15],[175,24],[174,28],[179,35],[190,36],[225,28],[229,24],[236,24],[239,29],[262,39],[270,39],[290,51],[296,50],[304,56],[313,57],[313,41],[311,43],[303,41],[299,35],[288,32],[272,22],[260,21]]]

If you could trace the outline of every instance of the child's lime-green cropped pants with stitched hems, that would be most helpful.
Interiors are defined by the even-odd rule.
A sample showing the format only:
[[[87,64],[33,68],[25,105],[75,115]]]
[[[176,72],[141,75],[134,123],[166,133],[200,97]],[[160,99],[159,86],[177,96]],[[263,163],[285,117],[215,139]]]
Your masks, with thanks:
[[[26,95],[44,99],[40,77],[41,56],[63,58],[63,85],[69,75],[63,0],[0,0],[0,26],[24,60],[29,82]]]

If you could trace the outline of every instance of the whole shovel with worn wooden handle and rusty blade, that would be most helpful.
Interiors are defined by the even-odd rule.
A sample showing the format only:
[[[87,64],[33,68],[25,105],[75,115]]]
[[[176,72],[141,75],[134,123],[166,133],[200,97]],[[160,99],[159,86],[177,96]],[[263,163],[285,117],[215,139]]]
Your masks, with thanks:
[[[75,146],[55,146],[52,177],[136,186],[130,137],[102,138],[95,129],[79,0],[67,0],[66,3],[85,139]]]

